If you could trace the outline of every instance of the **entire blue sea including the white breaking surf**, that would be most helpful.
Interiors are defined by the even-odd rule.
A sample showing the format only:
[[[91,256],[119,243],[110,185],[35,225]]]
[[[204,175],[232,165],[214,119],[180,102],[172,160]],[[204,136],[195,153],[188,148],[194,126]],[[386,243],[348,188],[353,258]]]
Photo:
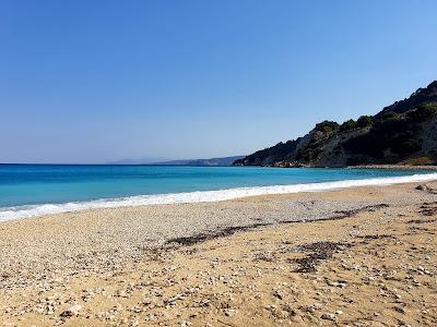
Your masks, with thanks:
[[[426,170],[0,165],[0,220],[436,179],[436,171]]]

